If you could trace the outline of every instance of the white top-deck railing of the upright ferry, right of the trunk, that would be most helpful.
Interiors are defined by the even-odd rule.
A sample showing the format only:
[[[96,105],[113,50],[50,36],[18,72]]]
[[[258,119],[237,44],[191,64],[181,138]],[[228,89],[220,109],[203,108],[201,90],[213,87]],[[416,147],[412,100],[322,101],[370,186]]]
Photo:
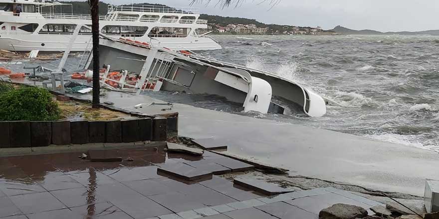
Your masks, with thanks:
[[[138,12],[158,12],[158,13],[180,13],[180,14],[199,14],[200,9],[193,7],[167,7],[154,5],[108,5],[108,12],[111,11],[138,11]]]

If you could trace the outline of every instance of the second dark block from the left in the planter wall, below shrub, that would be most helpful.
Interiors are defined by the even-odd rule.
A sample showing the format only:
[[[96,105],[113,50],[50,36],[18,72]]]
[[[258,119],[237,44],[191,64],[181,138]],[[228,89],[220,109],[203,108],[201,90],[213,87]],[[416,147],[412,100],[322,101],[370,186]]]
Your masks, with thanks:
[[[30,122],[10,121],[9,122],[10,147],[30,146]]]

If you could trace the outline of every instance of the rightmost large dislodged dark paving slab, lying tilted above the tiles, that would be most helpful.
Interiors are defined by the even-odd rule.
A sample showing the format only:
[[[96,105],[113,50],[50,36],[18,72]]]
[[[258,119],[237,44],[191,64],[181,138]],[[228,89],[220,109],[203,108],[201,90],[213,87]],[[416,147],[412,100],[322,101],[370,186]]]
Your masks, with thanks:
[[[264,180],[258,179],[245,179],[245,178],[235,178],[233,184],[245,187],[247,189],[260,192],[267,196],[294,192],[295,190],[282,188],[276,184],[265,182]]]

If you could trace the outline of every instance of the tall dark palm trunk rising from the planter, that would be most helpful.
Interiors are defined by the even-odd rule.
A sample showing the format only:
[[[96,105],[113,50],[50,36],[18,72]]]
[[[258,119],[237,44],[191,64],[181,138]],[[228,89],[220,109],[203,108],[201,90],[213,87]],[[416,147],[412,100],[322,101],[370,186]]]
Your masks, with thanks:
[[[91,34],[93,37],[93,101],[92,108],[99,108],[99,0],[89,0],[91,9]]]

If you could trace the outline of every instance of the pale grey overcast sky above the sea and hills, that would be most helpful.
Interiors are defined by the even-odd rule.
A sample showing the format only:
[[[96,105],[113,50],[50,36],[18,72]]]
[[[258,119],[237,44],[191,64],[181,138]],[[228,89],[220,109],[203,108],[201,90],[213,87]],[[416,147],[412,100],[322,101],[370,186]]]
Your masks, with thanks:
[[[268,24],[319,25],[323,29],[336,25],[379,31],[439,29],[439,0],[281,0],[270,10],[268,3],[258,4],[261,1],[243,0],[238,7],[222,9],[216,6],[218,0],[208,5],[204,0],[194,7],[212,15],[252,18]],[[190,6],[190,0],[113,0],[114,4],[131,2]]]

